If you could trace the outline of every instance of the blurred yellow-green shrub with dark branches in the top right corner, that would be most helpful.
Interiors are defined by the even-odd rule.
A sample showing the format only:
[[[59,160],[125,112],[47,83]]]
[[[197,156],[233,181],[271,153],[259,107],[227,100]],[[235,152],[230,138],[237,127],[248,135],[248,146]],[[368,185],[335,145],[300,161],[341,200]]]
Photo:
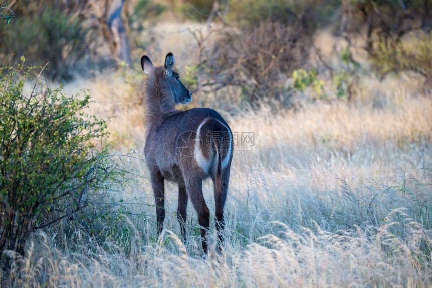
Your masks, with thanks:
[[[380,76],[415,71],[427,83],[432,79],[430,4],[427,0],[345,1],[341,32],[349,40],[350,34],[366,31],[365,50]]]

